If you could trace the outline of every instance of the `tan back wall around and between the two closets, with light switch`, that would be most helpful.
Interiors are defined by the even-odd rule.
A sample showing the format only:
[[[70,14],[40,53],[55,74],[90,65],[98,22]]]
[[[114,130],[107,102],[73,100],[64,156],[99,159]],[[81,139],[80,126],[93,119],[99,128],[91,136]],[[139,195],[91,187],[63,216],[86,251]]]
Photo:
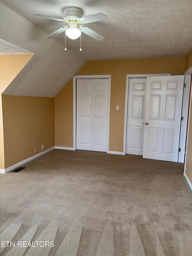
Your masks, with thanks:
[[[185,58],[89,61],[76,75],[112,74],[110,103],[110,150],[123,151],[126,74],[184,73]],[[121,74],[115,76],[113,74]],[[67,101],[67,104],[66,104]],[[119,111],[116,111],[119,105]],[[73,147],[72,80],[55,97],[55,145]]]

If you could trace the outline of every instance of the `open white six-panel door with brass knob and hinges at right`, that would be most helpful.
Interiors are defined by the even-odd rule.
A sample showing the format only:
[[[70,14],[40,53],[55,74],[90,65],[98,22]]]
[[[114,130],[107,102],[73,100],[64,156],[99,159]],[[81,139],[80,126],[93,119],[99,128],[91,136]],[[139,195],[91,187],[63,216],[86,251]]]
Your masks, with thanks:
[[[184,75],[147,77],[143,158],[178,161]]]

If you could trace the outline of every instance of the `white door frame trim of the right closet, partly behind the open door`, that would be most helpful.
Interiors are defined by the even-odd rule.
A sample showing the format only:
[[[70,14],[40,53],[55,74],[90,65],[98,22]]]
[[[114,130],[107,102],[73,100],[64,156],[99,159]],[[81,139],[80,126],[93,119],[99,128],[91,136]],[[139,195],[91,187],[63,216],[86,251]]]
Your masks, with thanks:
[[[170,73],[164,73],[164,74],[130,74],[130,75],[126,75],[123,155],[126,155],[126,143],[127,143],[127,116],[128,116],[129,78],[147,78],[147,77],[152,77],[152,76],[170,76],[170,75],[171,75]]]

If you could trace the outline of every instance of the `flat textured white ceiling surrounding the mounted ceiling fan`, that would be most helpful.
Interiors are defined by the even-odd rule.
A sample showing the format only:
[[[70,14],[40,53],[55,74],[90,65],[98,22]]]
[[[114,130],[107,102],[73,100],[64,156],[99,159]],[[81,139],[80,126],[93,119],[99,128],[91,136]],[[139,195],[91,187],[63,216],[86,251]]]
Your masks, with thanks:
[[[186,56],[192,48],[191,0],[1,0],[47,34],[62,25],[32,16],[41,13],[63,18],[63,8],[79,7],[83,16],[103,12],[109,20],[87,26],[105,37],[95,41],[82,35],[81,56],[87,60]],[[64,44],[64,33],[56,38]],[[54,39],[46,39],[53,41]],[[79,55],[80,39],[67,40]]]

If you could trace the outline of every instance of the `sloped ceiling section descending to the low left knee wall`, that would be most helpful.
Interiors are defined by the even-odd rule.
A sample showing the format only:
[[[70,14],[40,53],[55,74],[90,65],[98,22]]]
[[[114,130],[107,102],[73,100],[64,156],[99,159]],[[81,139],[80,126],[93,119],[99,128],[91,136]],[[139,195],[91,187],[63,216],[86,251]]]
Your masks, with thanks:
[[[55,97],[86,60],[0,3],[1,39],[35,53],[3,94]]]

